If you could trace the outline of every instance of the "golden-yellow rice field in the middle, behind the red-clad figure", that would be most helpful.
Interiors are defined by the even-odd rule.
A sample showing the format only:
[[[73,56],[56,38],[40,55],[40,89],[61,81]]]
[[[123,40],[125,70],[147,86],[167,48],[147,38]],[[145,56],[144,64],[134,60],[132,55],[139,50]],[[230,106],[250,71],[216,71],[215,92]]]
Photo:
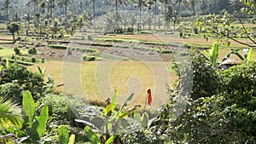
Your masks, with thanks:
[[[167,65],[167,63],[165,64]],[[73,84],[70,90],[67,91],[73,92],[73,95],[82,95],[82,99],[90,101],[91,103],[104,103],[107,97],[112,97],[113,89],[119,90],[119,95],[121,95],[120,103],[134,92],[135,101],[132,101],[133,106],[137,104],[144,105],[148,88],[152,89],[154,100],[160,99],[160,97],[158,97],[160,96],[159,94],[166,93],[166,84],[163,84],[164,88],[161,90],[156,88],[155,77],[157,76],[155,76],[152,69],[150,69],[154,66],[159,66],[159,62],[152,62],[148,64],[150,66],[147,66],[141,61],[119,61],[114,66],[110,66],[109,61],[101,61],[101,63],[99,61],[84,61],[82,64],[68,63],[65,65],[73,66],[73,68],[67,70],[68,74],[66,76],[65,73],[63,74],[63,63],[61,61],[47,61],[44,64],[30,66],[30,68],[32,71],[36,72],[37,66],[42,68],[47,67],[46,74],[54,78],[55,84],[61,84],[64,81]],[[73,72],[76,72],[75,65],[80,66],[80,72],[73,74]],[[101,65],[102,71],[97,73],[96,70],[99,65]],[[109,73],[106,70],[108,68],[111,69]],[[106,72],[109,80],[108,78],[101,79]],[[76,74],[77,77],[74,76]],[[79,79],[79,76],[81,79]],[[177,76],[169,73],[169,78],[170,81],[168,84],[172,84]],[[105,85],[100,86],[101,84]],[[78,92],[75,85],[82,86],[84,91]],[[137,89],[139,86],[141,89]],[[65,89],[66,88],[67,87],[65,87]],[[63,88],[58,90],[63,90]],[[157,103],[157,101],[155,102]]]

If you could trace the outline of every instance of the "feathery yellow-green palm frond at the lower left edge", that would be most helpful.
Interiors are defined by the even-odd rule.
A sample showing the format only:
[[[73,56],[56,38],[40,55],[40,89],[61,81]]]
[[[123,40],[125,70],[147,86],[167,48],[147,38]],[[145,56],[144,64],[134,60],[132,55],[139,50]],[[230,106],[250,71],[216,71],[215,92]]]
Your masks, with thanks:
[[[8,129],[9,127],[21,128],[21,126],[21,108],[13,101],[0,97],[0,127]]]

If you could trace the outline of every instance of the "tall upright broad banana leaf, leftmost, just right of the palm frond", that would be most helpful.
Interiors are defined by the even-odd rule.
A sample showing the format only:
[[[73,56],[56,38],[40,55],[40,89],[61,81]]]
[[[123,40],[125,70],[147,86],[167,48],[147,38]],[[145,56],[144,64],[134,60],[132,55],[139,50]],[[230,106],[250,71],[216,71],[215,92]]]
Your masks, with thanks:
[[[29,91],[23,93],[22,108],[23,115],[25,116],[25,123],[27,124],[26,128],[31,129],[36,107],[32,95]]]

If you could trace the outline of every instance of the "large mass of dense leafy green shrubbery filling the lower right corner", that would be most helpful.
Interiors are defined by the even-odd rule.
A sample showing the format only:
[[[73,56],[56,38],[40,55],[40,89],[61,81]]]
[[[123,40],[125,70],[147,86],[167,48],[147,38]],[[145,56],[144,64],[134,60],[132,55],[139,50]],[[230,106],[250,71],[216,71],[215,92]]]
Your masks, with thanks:
[[[182,89],[169,90],[170,102],[154,122],[158,135],[174,143],[255,143],[256,62],[220,71],[195,53],[192,63],[192,97],[183,101],[182,114],[172,120]]]

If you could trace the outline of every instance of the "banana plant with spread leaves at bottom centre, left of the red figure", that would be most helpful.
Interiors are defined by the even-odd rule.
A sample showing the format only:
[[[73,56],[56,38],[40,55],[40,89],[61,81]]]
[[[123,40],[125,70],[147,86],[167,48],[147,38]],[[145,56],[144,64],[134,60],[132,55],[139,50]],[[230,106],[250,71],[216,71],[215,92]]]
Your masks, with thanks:
[[[132,100],[133,93],[126,99],[125,103],[119,108],[119,111],[115,111],[117,106],[118,91],[114,90],[114,95],[112,101],[108,102],[107,107],[102,111],[102,121],[104,125],[102,128],[97,128],[95,124],[82,119],[76,119],[79,123],[84,123],[88,126],[84,128],[90,142],[93,144],[110,144],[116,141],[121,141],[117,133],[118,130],[124,130],[125,127],[129,126],[129,118],[134,112],[137,111],[139,105],[131,107],[129,110],[124,110],[128,103]],[[102,132],[103,131],[103,132]],[[101,135],[96,135],[96,133],[101,133]]]

